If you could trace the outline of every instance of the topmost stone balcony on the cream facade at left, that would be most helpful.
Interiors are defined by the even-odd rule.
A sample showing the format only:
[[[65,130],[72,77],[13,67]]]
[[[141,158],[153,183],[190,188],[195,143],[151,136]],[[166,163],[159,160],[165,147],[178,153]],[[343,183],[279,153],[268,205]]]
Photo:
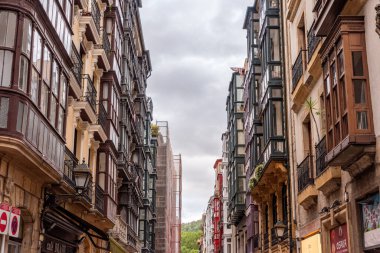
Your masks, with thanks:
[[[91,9],[90,9],[91,7]],[[85,26],[87,40],[100,44],[100,19],[101,14],[96,0],[91,0],[91,6],[87,6],[79,17],[80,26]]]

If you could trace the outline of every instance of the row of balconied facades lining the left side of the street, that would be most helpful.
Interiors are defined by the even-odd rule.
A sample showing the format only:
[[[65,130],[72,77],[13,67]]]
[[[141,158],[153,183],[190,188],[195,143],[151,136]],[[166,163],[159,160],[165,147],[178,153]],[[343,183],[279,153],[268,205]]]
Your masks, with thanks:
[[[153,252],[154,211],[139,218],[146,199],[154,209],[156,147],[140,7],[1,2],[1,206],[21,223],[2,249]]]

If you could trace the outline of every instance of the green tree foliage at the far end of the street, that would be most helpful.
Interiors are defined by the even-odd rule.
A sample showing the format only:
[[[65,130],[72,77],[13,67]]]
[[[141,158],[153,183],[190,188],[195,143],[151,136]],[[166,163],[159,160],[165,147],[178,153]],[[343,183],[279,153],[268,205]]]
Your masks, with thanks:
[[[201,224],[201,220],[182,224],[181,253],[198,253],[198,240],[203,234]]]

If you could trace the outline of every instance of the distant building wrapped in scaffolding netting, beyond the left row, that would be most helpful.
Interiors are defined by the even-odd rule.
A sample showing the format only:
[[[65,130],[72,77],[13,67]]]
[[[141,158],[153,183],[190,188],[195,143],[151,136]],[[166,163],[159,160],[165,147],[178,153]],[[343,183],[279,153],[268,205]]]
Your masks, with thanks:
[[[157,121],[156,237],[157,253],[181,249],[182,159],[173,155],[167,121]]]

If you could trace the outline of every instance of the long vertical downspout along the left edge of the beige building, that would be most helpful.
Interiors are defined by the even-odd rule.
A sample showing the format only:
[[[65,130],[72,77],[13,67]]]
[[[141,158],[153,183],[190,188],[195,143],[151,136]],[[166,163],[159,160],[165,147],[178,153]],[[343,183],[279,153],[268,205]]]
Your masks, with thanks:
[[[291,169],[291,165],[290,164],[290,155],[289,155],[289,152],[291,152],[293,149],[291,149],[290,147],[290,142],[289,142],[289,137],[290,137],[290,134],[289,134],[289,131],[288,131],[288,119],[289,119],[289,108],[288,108],[288,100],[287,100],[287,75],[286,75],[286,62],[285,61],[285,36],[287,35],[285,33],[285,28],[286,28],[286,19],[284,18],[285,15],[284,15],[284,11],[285,11],[285,4],[286,4],[286,1],[281,1],[282,4],[281,4],[281,9],[280,9],[280,18],[281,18],[281,21],[280,22],[280,31],[281,31],[281,43],[282,43],[282,47],[281,48],[281,56],[282,56],[282,80],[283,80],[283,90],[284,90],[284,108],[285,108],[285,113],[284,113],[284,126],[285,126],[285,147],[287,148],[286,150],[286,163],[285,163],[285,167],[287,168],[287,173],[288,173],[288,187],[287,187],[287,192],[288,192],[288,206],[289,206],[289,212],[288,212],[288,227],[289,227],[289,232],[288,232],[288,241],[289,241],[289,253],[292,253],[293,252],[293,247],[294,247],[294,242],[293,242],[293,230],[292,230],[292,227],[293,227],[293,214],[292,214],[292,200],[293,200],[293,194],[294,194],[294,189],[293,188],[293,184],[291,183],[292,182],[292,175],[293,175],[293,170]],[[287,41],[287,40],[286,40]]]

